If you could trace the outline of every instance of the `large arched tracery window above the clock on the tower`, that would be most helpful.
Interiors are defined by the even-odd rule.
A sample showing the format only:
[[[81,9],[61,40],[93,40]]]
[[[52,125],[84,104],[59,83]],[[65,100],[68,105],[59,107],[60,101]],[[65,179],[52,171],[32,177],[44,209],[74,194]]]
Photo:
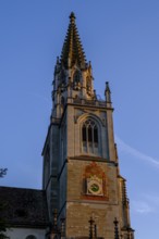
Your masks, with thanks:
[[[87,120],[82,125],[82,151],[85,153],[99,153],[98,126],[93,120]]]

